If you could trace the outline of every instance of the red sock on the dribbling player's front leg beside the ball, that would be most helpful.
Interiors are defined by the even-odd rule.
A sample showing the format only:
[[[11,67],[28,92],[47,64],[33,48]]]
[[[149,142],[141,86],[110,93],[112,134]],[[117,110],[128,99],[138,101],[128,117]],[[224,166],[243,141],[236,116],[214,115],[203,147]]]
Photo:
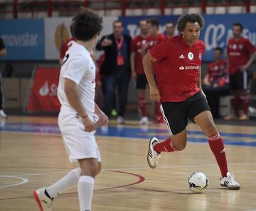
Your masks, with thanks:
[[[218,163],[218,166],[221,171],[221,176],[227,176],[228,172],[228,164],[227,158],[225,156],[225,147],[223,144],[223,139],[220,137],[220,134],[209,136],[208,143],[210,145],[210,149],[213,152],[215,159]]]

